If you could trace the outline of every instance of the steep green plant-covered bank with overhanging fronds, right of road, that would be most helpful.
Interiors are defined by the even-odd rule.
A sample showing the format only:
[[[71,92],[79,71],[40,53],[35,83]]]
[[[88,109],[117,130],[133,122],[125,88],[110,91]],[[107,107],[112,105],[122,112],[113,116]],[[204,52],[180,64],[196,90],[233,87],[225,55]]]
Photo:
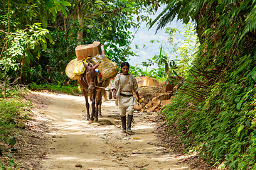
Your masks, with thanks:
[[[164,114],[185,149],[219,169],[256,169],[255,4],[171,0],[152,22],[196,23],[198,52]]]

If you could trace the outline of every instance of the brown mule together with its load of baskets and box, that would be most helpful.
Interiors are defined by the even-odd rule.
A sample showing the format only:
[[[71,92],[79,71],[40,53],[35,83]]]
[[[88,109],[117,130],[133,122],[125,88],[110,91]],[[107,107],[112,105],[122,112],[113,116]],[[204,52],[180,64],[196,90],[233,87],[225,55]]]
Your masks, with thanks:
[[[85,96],[85,106],[89,123],[98,120],[101,115],[102,94],[110,84],[110,78],[118,73],[117,64],[105,55],[100,42],[90,45],[78,45],[75,48],[76,59],[70,61],[65,69],[70,79],[77,79]],[[97,72],[98,69],[98,72]],[[92,112],[89,111],[88,95],[92,96]]]

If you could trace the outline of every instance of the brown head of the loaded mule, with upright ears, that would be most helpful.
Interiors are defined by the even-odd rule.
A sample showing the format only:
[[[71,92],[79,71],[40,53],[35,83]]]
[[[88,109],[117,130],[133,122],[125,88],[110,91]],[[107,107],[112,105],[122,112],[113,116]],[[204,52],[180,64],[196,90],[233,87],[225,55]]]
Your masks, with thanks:
[[[85,64],[84,66],[86,68],[85,72],[85,80],[87,81],[88,90],[90,93],[93,93],[96,89],[97,85],[97,73],[95,69],[100,65],[100,63],[96,64],[95,66],[92,66],[91,63]]]

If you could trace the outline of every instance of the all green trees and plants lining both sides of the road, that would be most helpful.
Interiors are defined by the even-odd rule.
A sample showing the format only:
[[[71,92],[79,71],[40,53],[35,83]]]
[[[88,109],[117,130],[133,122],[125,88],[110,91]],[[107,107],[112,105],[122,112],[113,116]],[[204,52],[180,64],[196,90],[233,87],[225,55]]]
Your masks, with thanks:
[[[13,1],[0,2],[0,162],[16,169],[11,149],[21,120],[31,114],[23,86],[78,94],[78,81],[65,75],[75,47],[97,40],[119,66],[136,55],[129,48],[140,22],[166,29],[169,49],[131,66],[135,76],[149,75],[178,84],[161,114],[166,132],[176,135],[185,153],[217,169],[256,169],[255,1]],[[141,15],[166,6],[154,21]],[[137,15],[134,21],[133,15]],[[174,18],[183,30],[165,28]],[[192,23],[192,24],[191,24]],[[174,43],[176,33],[183,42]],[[174,59],[175,58],[175,59]],[[155,68],[144,71],[154,65]],[[181,81],[172,81],[181,77]],[[9,86],[9,84],[12,84]],[[20,125],[19,125],[20,123]]]

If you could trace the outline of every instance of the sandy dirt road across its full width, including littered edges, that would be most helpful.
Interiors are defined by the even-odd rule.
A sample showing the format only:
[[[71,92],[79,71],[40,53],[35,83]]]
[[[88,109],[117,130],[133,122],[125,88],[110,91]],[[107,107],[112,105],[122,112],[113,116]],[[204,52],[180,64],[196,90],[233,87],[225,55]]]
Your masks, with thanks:
[[[182,144],[164,133],[159,113],[135,111],[134,135],[127,135],[113,99],[102,102],[102,118],[89,124],[83,96],[44,91],[26,98],[34,108],[19,139],[21,169],[208,169],[181,154]]]

